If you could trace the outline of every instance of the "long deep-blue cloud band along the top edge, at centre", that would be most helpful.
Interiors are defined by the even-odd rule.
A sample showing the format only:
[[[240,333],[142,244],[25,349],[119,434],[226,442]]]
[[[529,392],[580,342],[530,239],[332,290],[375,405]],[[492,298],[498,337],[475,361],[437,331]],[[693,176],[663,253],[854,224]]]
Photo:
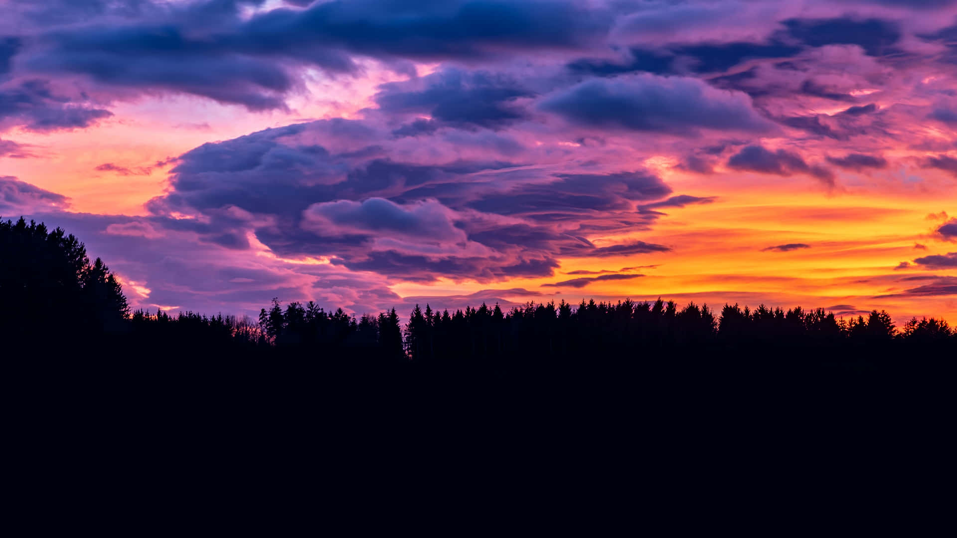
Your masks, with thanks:
[[[468,59],[502,47],[578,47],[604,35],[610,23],[606,13],[572,2],[333,0],[258,15],[241,33],[267,50],[324,46],[368,56]]]

